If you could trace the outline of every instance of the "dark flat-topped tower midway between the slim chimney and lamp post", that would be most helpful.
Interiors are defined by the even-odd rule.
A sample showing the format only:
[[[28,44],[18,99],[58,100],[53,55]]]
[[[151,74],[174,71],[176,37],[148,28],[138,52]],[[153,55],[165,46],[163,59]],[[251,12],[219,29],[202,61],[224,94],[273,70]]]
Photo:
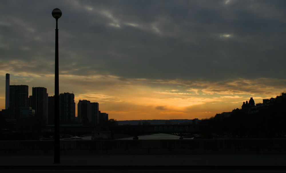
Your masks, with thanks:
[[[47,123],[47,88],[32,88],[32,109],[35,110],[36,116]]]

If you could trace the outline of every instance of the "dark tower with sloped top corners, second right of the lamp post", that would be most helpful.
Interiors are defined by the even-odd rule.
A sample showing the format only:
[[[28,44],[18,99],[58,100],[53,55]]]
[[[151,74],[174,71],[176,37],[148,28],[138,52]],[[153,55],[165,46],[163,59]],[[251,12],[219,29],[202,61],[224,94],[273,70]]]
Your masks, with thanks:
[[[91,122],[91,104],[88,100],[78,101],[78,122],[89,124]]]

